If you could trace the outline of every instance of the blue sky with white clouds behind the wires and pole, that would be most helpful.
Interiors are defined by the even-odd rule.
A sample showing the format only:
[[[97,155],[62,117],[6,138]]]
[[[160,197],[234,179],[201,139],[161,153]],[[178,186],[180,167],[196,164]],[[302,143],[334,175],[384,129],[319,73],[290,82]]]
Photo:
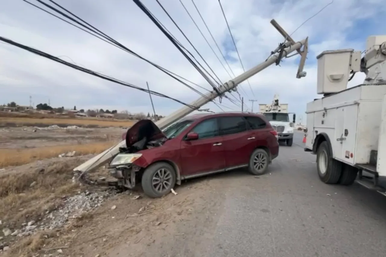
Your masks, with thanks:
[[[42,6],[37,1],[29,1]],[[159,1],[218,78],[222,82],[231,79],[228,72],[231,75],[232,73],[205,28],[192,0],[181,2],[220,57],[221,63],[193,24],[181,2]],[[151,90],[185,103],[190,103],[200,96],[145,61],[22,0],[0,0],[0,2],[2,37],[137,86],[146,87],[147,81]],[[49,3],[48,0],[43,2]],[[211,89],[208,82],[132,0],[57,0],[57,2],[146,59],[208,90]],[[236,76],[241,74],[243,70],[218,0],[194,0],[194,2],[233,73]],[[271,19],[275,19],[291,34],[331,0],[221,0],[221,2],[247,70],[264,61],[278,43],[283,41],[282,36],[269,23]],[[238,87],[238,92],[244,97],[249,110],[252,102],[248,100],[257,100],[254,105],[257,110],[257,104],[271,103],[273,95],[279,94],[281,102],[289,104],[289,111],[295,112],[298,118],[303,117],[304,120],[306,103],[320,97],[316,95],[315,56],[324,50],[345,48],[364,50],[368,36],[384,34],[386,5],[383,2],[383,0],[334,0],[322,12],[302,25],[293,34],[293,38],[298,41],[309,37],[306,78],[296,79],[298,56],[285,59],[281,66],[270,66],[249,79],[252,90],[248,83],[242,83]],[[210,71],[157,2],[142,0],[142,3]],[[78,109],[103,108],[152,112],[147,93],[104,81],[5,43],[0,44],[0,58],[0,103],[15,101],[19,105],[29,105],[29,96],[32,96],[35,105],[50,101],[53,107],[72,108],[76,105]],[[213,74],[212,76],[214,77]],[[350,81],[350,86],[360,84],[363,79],[363,74],[357,74]],[[203,93],[206,92],[202,88],[192,86]],[[239,99],[237,93],[233,95]],[[237,103],[235,98],[230,95],[229,97]],[[157,96],[154,96],[153,100],[156,112],[162,115],[168,115],[182,106],[180,103]],[[226,111],[240,110],[239,106],[227,99],[222,100],[222,105],[221,108]],[[213,103],[203,108],[220,111]]]

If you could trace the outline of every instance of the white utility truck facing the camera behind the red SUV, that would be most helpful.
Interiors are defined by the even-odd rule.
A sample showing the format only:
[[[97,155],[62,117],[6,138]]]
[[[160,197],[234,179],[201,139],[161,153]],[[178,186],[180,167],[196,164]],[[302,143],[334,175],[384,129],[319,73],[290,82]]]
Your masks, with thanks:
[[[278,132],[278,140],[285,141],[288,146],[291,146],[296,115],[293,114],[292,122],[290,122],[288,104],[279,103],[279,96],[274,95],[270,105],[259,104],[259,113],[264,114],[272,127]]]

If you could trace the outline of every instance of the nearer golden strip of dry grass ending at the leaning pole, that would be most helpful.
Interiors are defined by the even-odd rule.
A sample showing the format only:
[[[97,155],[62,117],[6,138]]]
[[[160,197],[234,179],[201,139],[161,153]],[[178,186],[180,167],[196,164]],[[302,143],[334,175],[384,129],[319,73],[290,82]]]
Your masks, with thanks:
[[[59,154],[76,151],[75,155],[99,154],[115,142],[98,142],[93,144],[57,145],[30,149],[0,149],[0,168],[19,166],[36,160],[58,157]]]

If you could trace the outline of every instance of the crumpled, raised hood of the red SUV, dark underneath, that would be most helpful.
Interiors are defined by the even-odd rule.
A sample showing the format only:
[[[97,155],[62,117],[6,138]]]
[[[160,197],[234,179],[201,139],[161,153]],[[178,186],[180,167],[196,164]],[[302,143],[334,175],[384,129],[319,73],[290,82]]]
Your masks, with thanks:
[[[126,147],[130,147],[136,142],[144,139],[152,141],[166,137],[162,131],[151,120],[140,120],[122,135],[122,139],[126,140]]]

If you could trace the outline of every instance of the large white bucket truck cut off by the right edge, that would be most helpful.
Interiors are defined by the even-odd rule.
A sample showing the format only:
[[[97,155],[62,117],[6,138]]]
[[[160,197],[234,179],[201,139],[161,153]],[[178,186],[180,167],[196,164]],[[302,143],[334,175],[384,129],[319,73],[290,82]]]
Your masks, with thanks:
[[[317,93],[307,104],[305,151],[317,155],[319,178],[357,183],[386,195],[386,36],[370,36],[366,51],[324,51]],[[363,84],[347,88],[355,73]],[[385,156],[385,158],[382,158]]]

